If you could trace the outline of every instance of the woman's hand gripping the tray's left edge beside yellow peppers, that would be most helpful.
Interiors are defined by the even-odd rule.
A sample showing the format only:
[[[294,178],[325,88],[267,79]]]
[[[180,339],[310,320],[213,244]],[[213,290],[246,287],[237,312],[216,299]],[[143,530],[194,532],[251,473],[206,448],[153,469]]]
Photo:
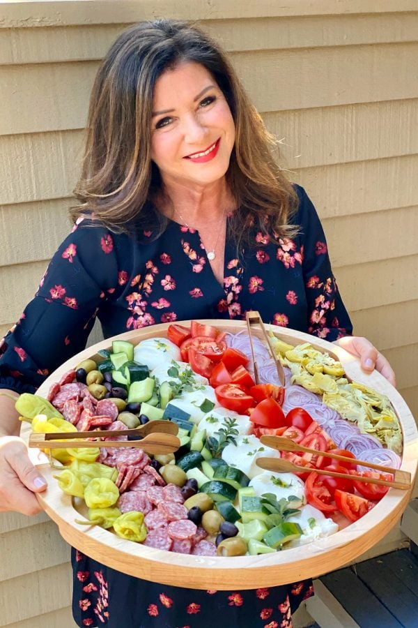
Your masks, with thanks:
[[[17,436],[0,438],[0,511],[38,514],[42,509],[34,493],[47,482],[29,460],[28,450]]]

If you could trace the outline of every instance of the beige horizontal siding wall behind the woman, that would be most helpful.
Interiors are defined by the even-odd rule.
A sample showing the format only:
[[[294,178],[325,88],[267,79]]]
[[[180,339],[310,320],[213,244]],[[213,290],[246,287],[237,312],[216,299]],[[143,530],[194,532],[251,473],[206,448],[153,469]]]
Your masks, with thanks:
[[[392,361],[417,416],[416,0],[117,5],[0,5],[0,336],[68,232],[98,60],[136,20],[201,20],[318,208],[355,332]],[[70,627],[68,549],[54,525],[1,515],[0,533],[0,626]]]

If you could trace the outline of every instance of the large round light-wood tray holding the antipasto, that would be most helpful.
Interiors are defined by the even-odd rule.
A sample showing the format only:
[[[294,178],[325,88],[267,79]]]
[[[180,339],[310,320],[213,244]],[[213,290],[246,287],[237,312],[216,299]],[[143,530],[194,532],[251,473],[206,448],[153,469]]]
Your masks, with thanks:
[[[207,320],[223,331],[235,333],[245,329],[244,322],[230,320]],[[183,322],[188,324],[189,321]],[[154,325],[136,331],[129,331],[118,339],[134,344],[153,336],[165,336],[168,324]],[[415,420],[408,406],[379,373],[366,375],[359,368],[359,362],[345,350],[292,329],[266,325],[267,329],[283,338],[284,341],[297,345],[309,342],[316,349],[327,351],[339,359],[346,369],[348,377],[363,382],[371,388],[386,394],[392,401],[403,431],[403,456],[401,469],[412,475],[412,484],[417,470],[418,433]],[[38,390],[41,396],[47,396],[52,383],[58,381],[66,371],[73,368],[82,359],[95,357],[98,350],[111,345],[112,338],[89,347],[58,368]],[[325,539],[309,545],[292,548],[277,553],[239,558],[218,558],[207,556],[183,555],[148,548],[116,537],[116,534],[102,530],[97,526],[86,528],[75,523],[79,511],[75,509],[70,496],[65,495],[52,475],[56,473],[49,465],[41,465],[40,472],[48,481],[45,493],[37,497],[47,514],[57,523],[61,536],[69,544],[86,553],[104,565],[123,571],[125,574],[144,578],[148,581],[198,589],[253,589],[288,584],[304,578],[314,578],[320,574],[337,569],[378,543],[395,525],[410,499],[412,491],[400,491],[390,488],[385,498],[368,514],[356,523]]]

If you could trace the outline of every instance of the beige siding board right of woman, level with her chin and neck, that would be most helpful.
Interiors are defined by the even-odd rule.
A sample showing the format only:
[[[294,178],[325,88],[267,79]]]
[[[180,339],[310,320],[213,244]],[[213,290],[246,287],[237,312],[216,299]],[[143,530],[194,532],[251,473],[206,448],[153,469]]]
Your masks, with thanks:
[[[418,204],[418,155],[295,170],[322,219]]]

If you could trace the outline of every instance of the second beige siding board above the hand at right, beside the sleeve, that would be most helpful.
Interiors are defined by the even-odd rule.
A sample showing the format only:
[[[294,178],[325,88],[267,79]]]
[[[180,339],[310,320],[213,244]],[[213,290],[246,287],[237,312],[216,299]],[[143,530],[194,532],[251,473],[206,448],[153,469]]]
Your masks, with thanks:
[[[349,312],[414,301],[418,294],[416,257],[398,257],[335,268]]]

